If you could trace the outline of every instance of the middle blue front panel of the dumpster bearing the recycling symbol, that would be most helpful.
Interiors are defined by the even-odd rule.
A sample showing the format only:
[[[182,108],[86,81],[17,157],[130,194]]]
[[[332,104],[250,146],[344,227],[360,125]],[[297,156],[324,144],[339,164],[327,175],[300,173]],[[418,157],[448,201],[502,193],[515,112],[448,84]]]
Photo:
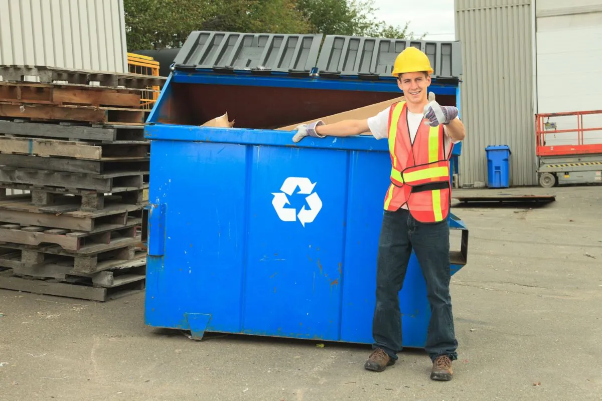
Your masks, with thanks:
[[[244,332],[338,340],[349,152],[252,153]]]

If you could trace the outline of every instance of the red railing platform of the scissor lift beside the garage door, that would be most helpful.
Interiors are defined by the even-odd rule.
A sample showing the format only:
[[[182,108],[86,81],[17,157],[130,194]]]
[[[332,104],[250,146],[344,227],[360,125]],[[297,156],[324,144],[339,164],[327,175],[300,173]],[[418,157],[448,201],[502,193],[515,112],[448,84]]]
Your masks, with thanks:
[[[602,153],[602,143],[584,145],[583,144],[583,133],[588,131],[600,131],[602,127],[596,128],[583,128],[583,116],[591,114],[602,114],[602,110],[592,111],[575,111],[575,112],[563,112],[563,113],[542,113],[535,115],[535,135],[536,135],[536,155],[537,156],[562,156],[562,155],[582,155],[586,153]],[[544,130],[544,119],[550,117],[566,117],[566,116],[577,117],[577,129],[554,129]],[[545,135],[550,133],[577,133],[577,144],[576,145],[545,145]]]

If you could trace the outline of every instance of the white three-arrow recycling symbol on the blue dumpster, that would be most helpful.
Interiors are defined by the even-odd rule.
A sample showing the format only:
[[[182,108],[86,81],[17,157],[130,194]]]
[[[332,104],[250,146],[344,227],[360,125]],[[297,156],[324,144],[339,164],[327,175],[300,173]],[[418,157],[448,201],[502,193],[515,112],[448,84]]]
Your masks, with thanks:
[[[322,209],[322,200],[314,191],[315,182],[312,184],[311,180],[306,177],[288,177],[284,180],[280,190],[282,192],[273,192],[274,198],[272,200],[272,205],[278,213],[278,217],[282,221],[296,221],[299,218],[299,221],[305,227],[306,223],[311,223],[314,221],[315,216],[318,215],[320,209]],[[296,209],[291,207],[284,207],[287,204],[291,204],[288,201],[288,196],[293,195],[295,189],[299,187],[298,194],[306,194],[305,201],[307,202],[309,209],[305,209],[305,205],[299,210],[297,213]]]

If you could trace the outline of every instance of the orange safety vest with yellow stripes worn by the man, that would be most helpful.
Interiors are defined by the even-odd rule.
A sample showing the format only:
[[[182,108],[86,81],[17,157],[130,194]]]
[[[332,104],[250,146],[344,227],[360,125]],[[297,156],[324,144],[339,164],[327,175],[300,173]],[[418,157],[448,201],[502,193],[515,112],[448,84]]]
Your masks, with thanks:
[[[399,102],[391,106],[388,130],[391,184],[385,210],[393,212],[406,204],[420,222],[447,219],[452,194],[449,159],[453,144],[445,155],[443,126],[430,127],[421,122],[412,144],[408,106]]]

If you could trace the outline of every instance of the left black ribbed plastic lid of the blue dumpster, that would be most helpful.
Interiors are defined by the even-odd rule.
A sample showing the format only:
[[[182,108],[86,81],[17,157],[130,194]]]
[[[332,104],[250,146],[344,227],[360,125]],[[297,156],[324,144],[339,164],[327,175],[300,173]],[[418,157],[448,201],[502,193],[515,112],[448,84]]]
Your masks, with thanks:
[[[250,71],[309,75],[323,34],[193,31],[174,60],[176,70]]]

